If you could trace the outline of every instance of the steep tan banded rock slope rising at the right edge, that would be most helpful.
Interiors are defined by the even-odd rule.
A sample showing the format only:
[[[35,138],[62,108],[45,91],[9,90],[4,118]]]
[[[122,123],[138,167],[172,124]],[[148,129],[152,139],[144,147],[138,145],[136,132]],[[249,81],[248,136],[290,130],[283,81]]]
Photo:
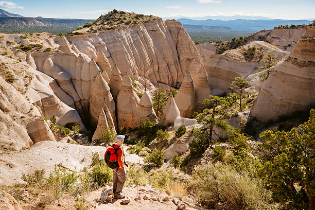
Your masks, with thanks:
[[[315,27],[307,26],[293,52],[261,87],[251,113],[259,120],[277,119],[315,103]]]

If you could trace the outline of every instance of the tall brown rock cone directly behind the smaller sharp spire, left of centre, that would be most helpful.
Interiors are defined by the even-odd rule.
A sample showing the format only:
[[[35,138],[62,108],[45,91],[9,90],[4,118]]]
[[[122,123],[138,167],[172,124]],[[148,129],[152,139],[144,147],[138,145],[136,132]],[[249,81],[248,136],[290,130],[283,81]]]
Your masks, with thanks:
[[[104,107],[104,104],[107,105],[115,125],[115,102],[107,82],[104,80],[100,72],[98,72],[92,87],[92,95],[90,99],[90,115],[92,126],[94,127],[97,125],[98,117]],[[116,128],[116,126],[114,128]]]

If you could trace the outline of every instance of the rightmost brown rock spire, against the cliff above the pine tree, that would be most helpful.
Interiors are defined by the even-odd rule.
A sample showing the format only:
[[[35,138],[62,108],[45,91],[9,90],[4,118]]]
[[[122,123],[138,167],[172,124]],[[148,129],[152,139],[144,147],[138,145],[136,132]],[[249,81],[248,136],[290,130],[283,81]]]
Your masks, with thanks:
[[[196,91],[196,96],[197,96],[197,111],[200,112],[202,109],[206,108],[207,105],[202,104],[204,99],[209,98],[209,95],[211,95],[211,90],[210,86],[208,84],[207,80],[207,73],[202,66],[197,74],[197,78],[194,81],[194,88]]]

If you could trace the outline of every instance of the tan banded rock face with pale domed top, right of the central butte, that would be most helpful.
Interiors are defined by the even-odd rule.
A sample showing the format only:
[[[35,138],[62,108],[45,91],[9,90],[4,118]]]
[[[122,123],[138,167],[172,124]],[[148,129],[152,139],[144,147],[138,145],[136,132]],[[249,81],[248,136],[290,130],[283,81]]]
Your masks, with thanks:
[[[236,49],[226,50],[221,55],[209,54],[207,49],[200,51],[212,95],[230,92],[229,87],[235,77],[246,78],[259,72],[260,69],[257,66],[263,66],[263,60],[260,57],[248,59],[244,55],[244,53],[250,53],[248,47],[253,46],[257,48],[256,54],[258,54],[258,51],[261,51],[264,55],[267,51],[276,54],[276,62],[283,60],[285,56],[289,55],[289,52],[263,41],[252,41]]]

